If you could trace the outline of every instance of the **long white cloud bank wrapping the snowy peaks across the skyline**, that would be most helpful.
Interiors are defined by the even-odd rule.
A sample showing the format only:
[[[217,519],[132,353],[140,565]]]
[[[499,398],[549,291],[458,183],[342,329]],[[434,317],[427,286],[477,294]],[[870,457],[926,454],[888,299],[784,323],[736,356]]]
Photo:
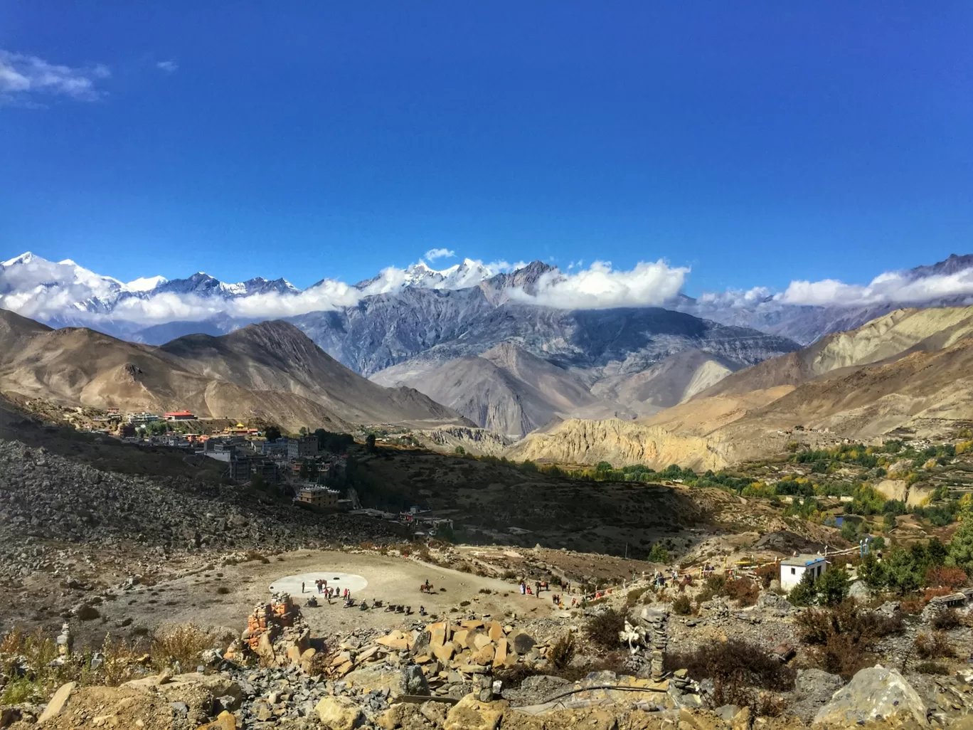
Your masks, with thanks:
[[[503,278],[493,279],[497,274],[525,271],[526,266],[523,262],[464,259],[437,270],[425,263],[453,255],[447,249],[432,249],[424,260],[405,269],[388,267],[356,284],[324,278],[302,291],[286,279],[256,277],[226,283],[202,273],[172,281],[149,276],[123,282],[71,260],[51,262],[27,253],[0,263],[0,308],[43,321],[78,324],[108,318],[151,325],[217,315],[266,319],[354,307],[366,297],[394,296],[407,287],[489,287],[491,281]],[[541,273],[526,283],[515,274],[497,285],[503,287],[506,300],[562,310],[668,306],[703,316],[720,310],[973,301],[973,256],[953,256],[934,266],[880,274],[868,284],[794,280],[783,292],[758,286],[748,291],[706,293],[695,302],[680,296],[690,275],[688,268],[672,267],[663,260],[639,262],[631,270],[616,269],[604,261],[587,268],[579,264],[567,271],[540,265]]]

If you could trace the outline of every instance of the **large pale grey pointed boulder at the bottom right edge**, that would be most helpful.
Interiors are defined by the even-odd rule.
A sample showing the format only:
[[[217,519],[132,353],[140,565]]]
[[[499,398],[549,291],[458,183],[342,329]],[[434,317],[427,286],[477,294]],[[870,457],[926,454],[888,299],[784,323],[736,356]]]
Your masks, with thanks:
[[[814,715],[814,724],[846,728],[891,717],[925,725],[926,707],[904,676],[876,665],[861,670],[835,692]]]

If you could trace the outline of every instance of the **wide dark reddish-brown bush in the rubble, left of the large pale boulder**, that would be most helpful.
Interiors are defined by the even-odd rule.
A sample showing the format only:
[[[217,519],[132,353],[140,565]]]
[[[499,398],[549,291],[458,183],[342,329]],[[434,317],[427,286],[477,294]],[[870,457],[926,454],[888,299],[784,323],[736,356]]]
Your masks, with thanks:
[[[667,652],[665,666],[667,671],[686,669],[698,681],[711,678],[714,707],[739,705],[764,714],[778,714],[782,708],[755,690],[787,692],[794,688],[796,674],[761,645],[743,639],[711,640],[695,651]]]

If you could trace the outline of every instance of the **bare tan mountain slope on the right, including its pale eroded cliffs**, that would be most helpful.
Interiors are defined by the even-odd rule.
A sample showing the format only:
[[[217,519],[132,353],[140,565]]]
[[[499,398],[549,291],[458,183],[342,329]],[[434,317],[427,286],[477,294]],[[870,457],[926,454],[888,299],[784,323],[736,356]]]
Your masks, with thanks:
[[[832,441],[902,428],[929,436],[971,415],[973,308],[897,310],[730,375],[650,419],[606,427],[613,449],[592,439],[595,426],[567,420],[528,435],[510,455],[591,462],[610,451],[607,460],[631,463],[640,443],[658,467],[695,443],[696,454],[675,461],[727,465],[781,451],[788,437],[780,432],[796,425],[827,429],[821,438]]]

